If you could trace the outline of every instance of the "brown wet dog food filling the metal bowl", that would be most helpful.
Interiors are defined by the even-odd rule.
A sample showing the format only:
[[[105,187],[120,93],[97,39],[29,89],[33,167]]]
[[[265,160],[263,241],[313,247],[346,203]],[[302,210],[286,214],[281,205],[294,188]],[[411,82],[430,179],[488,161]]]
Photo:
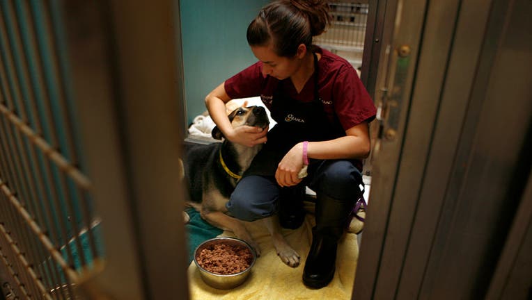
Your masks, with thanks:
[[[229,275],[249,268],[253,254],[249,248],[240,244],[212,244],[201,250],[196,261],[208,272]]]

